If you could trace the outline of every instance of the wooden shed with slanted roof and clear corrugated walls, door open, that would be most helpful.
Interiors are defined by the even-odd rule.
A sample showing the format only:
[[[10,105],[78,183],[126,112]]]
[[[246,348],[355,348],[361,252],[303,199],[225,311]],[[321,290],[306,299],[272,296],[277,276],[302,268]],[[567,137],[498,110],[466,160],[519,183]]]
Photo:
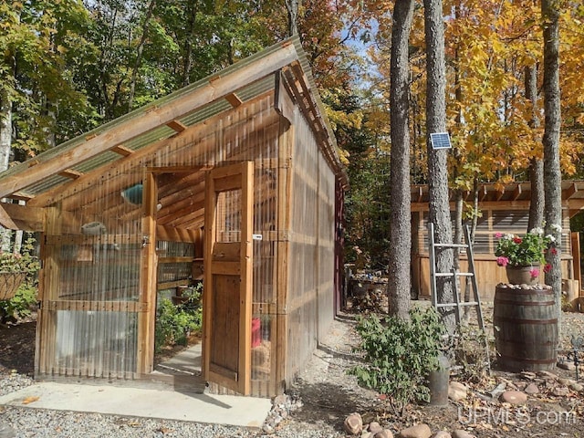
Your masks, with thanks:
[[[41,233],[36,379],[195,387],[154,327],[202,280],[210,390],[283,391],[334,318],[345,183],[297,38],[3,172],[0,223]]]

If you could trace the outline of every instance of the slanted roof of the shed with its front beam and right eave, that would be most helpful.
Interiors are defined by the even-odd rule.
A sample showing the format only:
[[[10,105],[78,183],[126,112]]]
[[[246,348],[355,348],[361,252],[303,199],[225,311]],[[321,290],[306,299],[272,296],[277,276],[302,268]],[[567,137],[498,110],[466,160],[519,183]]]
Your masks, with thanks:
[[[282,53],[281,56],[280,53]],[[254,99],[267,90],[273,89],[276,72],[295,61],[300,64],[302,73],[308,82],[305,85],[308,88],[309,96],[305,96],[305,98],[313,102],[317,112],[314,116],[320,120],[328,133],[326,139],[328,158],[333,161],[332,164],[336,171],[342,172],[339,157],[336,154],[336,141],[328,124],[322,102],[318,97],[308,59],[299,39],[295,36],[272,47],[267,47],[251,57],[246,57],[232,66],[198,80],[162,99],[157,99],[137,110],[132,110],[116,120],[111,120],[94,130],[65,141],[26,162],[16,164],[0,173],[0,197],[34,198],[60,184],[69,183],[71,180],[68,176],[59,175],[59,172],[70,173],[72,171],[87,174],[123,158],[120,153],[112,151],[116,146],[139,151],[155,141],[167,139],[176,134],[176,130],[167,126],[168,123],[179,122],[188,128],[232,108],[225,99],[230,94],[235,93],[237,98],[243,101]],[[255,68],[255,66],[261,68]],[[253,71],[254,76],[245,78],[245,81],[242,80],[239,84],[236,81],[230,83],[231,89],[227,86],[222,88],[230,77],[235,77],[247,69]],[[189,107],[187,99],[195,94],[199,96],[199,101],[194,102],[193,106]],[[204,99],[205,96],[208,99]],[[181,107],[178,110],[175,109],[177,105]],[[164,119],[167,116],[170,119]],[[124,127],[136,127],[140,123],[146,125],[143,120],[147,118],[152,120],[149,122],[151,125],[143,130],[137,127],[134,134],[129,133],[126,137],[120,135],[120,141],[115,144],[110,143],[106,149],[91,149],[89,143],[102,145],[111,132],[123,132]],[[83,151],[81,151],[82,149]]]

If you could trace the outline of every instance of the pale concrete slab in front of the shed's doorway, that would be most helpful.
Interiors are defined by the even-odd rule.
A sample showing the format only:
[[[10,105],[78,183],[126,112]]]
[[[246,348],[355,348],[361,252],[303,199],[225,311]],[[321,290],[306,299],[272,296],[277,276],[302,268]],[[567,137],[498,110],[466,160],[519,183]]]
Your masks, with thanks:
[[[55,382],[39,382],[6,394],[0,397],[0,405],[243,427],[261,427],[271,409],[269,399],[255,397]]]

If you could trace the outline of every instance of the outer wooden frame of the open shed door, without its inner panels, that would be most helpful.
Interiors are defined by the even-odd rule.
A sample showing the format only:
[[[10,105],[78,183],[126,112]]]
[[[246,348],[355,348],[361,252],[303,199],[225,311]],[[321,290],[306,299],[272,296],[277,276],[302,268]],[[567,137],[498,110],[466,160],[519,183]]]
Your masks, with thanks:
[[[240,175],[240,178],[234,178]],[[213,308],[212,261],[215,243],[217,193],[236,188],[242,190],[240,237],[240,289],[239,289],[239,357],[238,375],[232,381],[210,370]],[[203,287],[203,376],[229,389],[248,395],[251,390],[251,331],[252,331],[252,280],[253,280],[253,208],[254,162],[240,162],[216,167],[207,174],[205,183],[204,221],[204,287]]]

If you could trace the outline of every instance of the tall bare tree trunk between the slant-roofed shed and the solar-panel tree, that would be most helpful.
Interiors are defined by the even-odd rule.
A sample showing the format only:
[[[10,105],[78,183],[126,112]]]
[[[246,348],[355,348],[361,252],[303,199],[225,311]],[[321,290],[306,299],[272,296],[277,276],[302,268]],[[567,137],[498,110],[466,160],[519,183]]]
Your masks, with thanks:
[[[410,193],[410,59],[413,0],[396,0],[391,28],[391,236],[389,312],[409,318],[412,279]]]

